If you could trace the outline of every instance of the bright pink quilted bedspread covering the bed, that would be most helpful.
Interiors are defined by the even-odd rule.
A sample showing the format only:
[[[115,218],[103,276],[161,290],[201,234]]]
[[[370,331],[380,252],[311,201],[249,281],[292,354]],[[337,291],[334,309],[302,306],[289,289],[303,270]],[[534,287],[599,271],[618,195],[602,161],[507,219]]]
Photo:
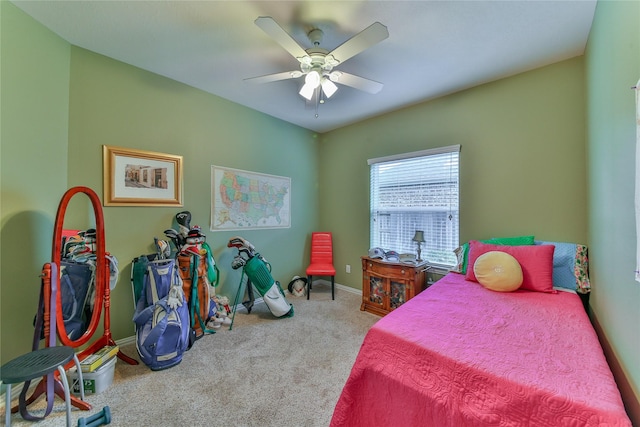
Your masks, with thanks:
[[[576,294],[450,273],[368,332],[331,426],[631,426]]]

